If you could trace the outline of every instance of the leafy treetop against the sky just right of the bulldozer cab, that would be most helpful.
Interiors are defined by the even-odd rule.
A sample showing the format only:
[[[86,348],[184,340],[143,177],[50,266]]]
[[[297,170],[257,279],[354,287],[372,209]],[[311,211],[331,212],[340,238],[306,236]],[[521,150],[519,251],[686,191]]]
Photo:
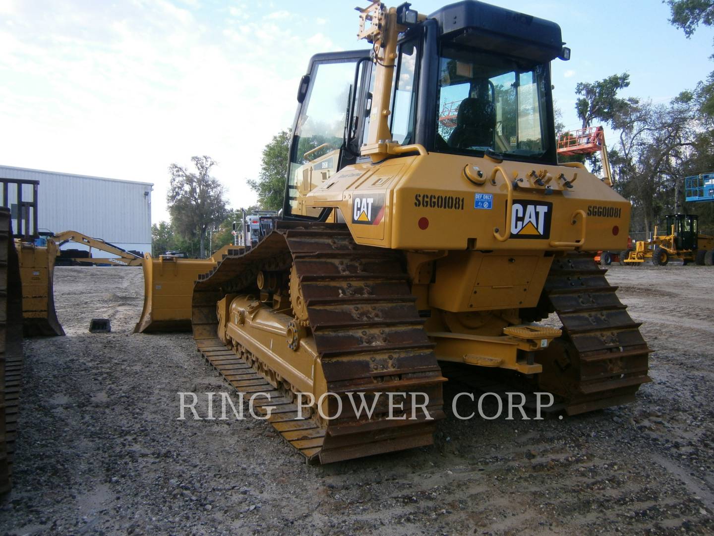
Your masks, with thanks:
[[[578,82],[575,94],[580,99],[575,101],[575,111],[583,121],[583,129],[590,126],[595,119],[612,123],[615,116],[635,104],[633,99],[620,99],[618,91],[630,85],[630,75],[627,73],[613,74],[594,82]]]

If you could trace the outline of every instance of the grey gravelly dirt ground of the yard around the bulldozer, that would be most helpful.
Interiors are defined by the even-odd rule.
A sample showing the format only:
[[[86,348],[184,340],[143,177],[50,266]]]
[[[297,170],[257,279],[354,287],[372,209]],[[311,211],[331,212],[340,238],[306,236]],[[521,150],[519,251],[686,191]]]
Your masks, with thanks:
[[[714,269],[612,267],[655,350],[632,405],[441,421],[431,447],[311,467],[265,422],[178,417],[225,390],[190,334],[133,334],[140,268],[60,267],[66,337],[25,342],[0,533],[711,534]],[[111,334],[89,334],[93,317]],[[446,388],[451,397],[464,390]]]

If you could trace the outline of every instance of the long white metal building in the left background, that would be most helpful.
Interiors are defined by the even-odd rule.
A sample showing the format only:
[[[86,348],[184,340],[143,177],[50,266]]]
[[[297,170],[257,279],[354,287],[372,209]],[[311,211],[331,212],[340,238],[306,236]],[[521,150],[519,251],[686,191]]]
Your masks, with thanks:
[[[40,231],[78,231],[124,249],[151,252],[151,187],[154,185],[150,182],[2,165],[0,178],[39,181],[37,225]],[[12,194],[9,198],[13,199]],[[65,244],[63,249],[66,248],[86,249],[74,243]]]

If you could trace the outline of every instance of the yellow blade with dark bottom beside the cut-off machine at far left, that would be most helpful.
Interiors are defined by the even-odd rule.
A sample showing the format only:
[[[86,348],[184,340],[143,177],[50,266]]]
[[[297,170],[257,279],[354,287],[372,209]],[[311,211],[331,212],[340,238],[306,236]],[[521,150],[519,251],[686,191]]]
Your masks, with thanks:
[[[15,240],[22,280],[22,317],[25,337],[64,335],[54,310],[54,262],[57,246]]]

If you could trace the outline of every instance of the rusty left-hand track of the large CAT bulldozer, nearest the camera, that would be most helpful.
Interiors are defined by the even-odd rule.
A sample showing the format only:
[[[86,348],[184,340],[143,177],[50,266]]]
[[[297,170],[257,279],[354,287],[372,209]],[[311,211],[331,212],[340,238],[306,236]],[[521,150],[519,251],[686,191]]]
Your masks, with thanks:
[[[316,367],[322,367],[326,390],[343,401],[341,417],[329,422],[318,415],[298,420],[291,393],[271,382],[264,365],[248,364],[261,356],[250,354],[240,341],[226,346],[216,336],[218,299],[229,292],[252,292],[260,270],[291,266],[306,302],[308,329],[318,351]],[[443,418],[445,379],[414,302],[398,252],[355,244],[345,226],[281,222],[256,248],[223,259],[199,277],[193,291],[193,337],[201,355],[239,392],[271,395],[259,409],[276,407],[269,422],[309,462],[335,462],[433,441],[436,420]],[[286,362],[290,354],[286,346]],[[433,418],[426,420],[421,413],[415,420],[388,420],[383,397],[373,417],[358,419],[348,392],[424,392]],[[411,417],[406,400],[405,417]],[[333,415],[336,401],[329,401]]]

